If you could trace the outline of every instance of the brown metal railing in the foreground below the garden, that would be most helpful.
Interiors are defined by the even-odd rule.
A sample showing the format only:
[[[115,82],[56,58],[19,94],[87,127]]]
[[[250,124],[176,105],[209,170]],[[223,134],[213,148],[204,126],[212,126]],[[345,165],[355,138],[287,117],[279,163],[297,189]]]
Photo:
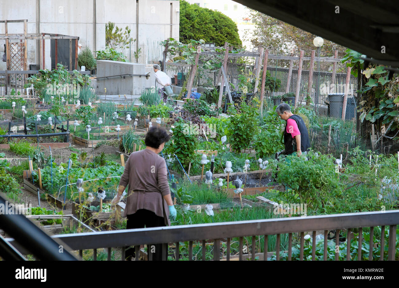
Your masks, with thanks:
[[[347,229],[347,243],[351,243],[352,229],[359,229],[358,238],[358,260],[361,260],[362,254],[362,229],[370,227],[369,247],[373,247],[373,233],[374,227],[381,226],[381,231],[385,231],[385,226],[389,227],[389,236],[387,239],[388,245],[388,260],[396,260],[396,226],[399,225],[399,210],[392,211],[378,211],[378,212],[361,212],[361,213],[345,213],[335,215],[321,215],[321,216],[307,216],[294,218],[279,218],[266,220],[252,220],[252,221],[237,221],[237,222],[223,222],[223,223],[209,223],[197,225],[181,225],[170,227],[156,227],[146,229],[129,229],[118,231],[105,231],[98,233],[80,233],[67,235],[54,235],[52,238],[56,241],[62,241],[70,249],[79,251],[82,256],[83,250],[93,249],[94,260],[97,259],[97,249],[108,249],[108,260],[111,260],[111,247],[120,247],[122,251],[122,259],[125,255],[125,247],[135,246],[136,258],[138,260],[139,245],[148,245],[148,243],[164,243],[163,247],[166,249],[168,244],[175,244],[175,259],[179,259],[179,242],[188,241],[189,243],[189,260],[192,259],[193,242],[201,241],[202,246],[202,260],[205,260],[206,241],[208,239],[213,242],[213,260],[220,260],[221,241],[227,244],[226,260],[230,260],[230,244],[231,239],[239,238],[239,260],[243,260],[243,237],[252,237],[252,243],[255,243],[257,236],[265,237],[263,259],[267,260],[268,256],[268,239],[271,235],[276,235],[277,251],[273,251],[276,260],[280,260],[280,235],[288,233],[288,260],[292,260],[292,233],[300,233],[300,260],[304,260],[304,233],[312,231],[313,238],[316,239],[316,231],[324,231],[324,260],[327,260],[327,233],[330,230],[336,230],[336,245],[340,244],[340,231]],[[352,230],[353,231],[353,230]],[[269,237],[269,238],[268,238]],[[208,241],[209,242],[209,241]],[[18,248],[14,241],[10,244]],[[385,233],[381,233],[380,245],[380,260],[384,260],[385,251]],[[251,245],[254,247],[254,245]],[[350,245],[347,245],[346,260],[350,260]],[[21,251],[21,250],[20,250]],[[23,251],[21,251],[23,252]],[[316,241],[312,241],[312,260],[315,260]],[[251,260],[255,260],[255,249],[252,248]],[[150,253],[151,254],[151,253]],[[166,260],[166,255],[163,255],[163,260]],[[372,249],[369,252],[369,260],[373,259]],[[339,252],[335,250],[335,260],[339,260]],[[397,259],[399,260],[399,259]]]

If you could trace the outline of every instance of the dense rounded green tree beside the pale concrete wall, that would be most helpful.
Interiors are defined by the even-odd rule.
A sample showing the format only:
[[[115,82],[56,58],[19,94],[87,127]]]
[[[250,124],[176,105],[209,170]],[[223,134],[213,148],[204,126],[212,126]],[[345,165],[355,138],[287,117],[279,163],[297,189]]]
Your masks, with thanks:
[[[180,0],[180,41],[203,39],[205,42],[223,46],[229,44],[241,47],[237,24],[221,12],[201,8]]]

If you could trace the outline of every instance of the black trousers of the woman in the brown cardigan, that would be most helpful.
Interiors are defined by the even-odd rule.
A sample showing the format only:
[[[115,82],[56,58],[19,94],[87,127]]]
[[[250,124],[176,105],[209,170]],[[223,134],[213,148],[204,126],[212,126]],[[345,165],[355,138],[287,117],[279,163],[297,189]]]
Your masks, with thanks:
[[[137,210],[134,214],[127,215],[126,229],[137,229],[137,228],[151,228],[166,226],[164,217],[157,216],[154,212],[146,209]],[[165,251],[163,251],[165,250]],[[126,249],[125,256],[127,260],[135,257],[135,246]],[[162,249],[162,244],[147,244],[148,259],[152,254],[152,260],[162,261],[162,253],[167,257],[168,251]],[[167,258],[166,258],[167,259]]]

